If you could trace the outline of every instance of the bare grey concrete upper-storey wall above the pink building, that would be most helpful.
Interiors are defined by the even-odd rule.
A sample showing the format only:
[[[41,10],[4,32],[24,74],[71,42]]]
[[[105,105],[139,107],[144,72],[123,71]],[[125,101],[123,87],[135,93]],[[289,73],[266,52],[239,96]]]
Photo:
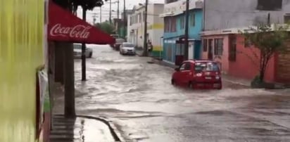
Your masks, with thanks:
[[[284,14],[290,13],[290,0],[283,0],[281,11],[258,11],[258,0],[205,0],[205,30],[220,30],[232,27],[254,25],[266,21],[267,13],[271,22],[284,22]]]

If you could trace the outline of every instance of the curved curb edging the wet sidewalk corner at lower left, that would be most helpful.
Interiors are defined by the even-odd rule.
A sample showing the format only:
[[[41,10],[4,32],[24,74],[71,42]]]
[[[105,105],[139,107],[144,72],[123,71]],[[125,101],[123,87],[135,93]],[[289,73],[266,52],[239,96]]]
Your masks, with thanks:
[[[55,115],[61,115],[61,114],[55,114]],[[62,115],[64,116],[64,115]],[[125,141],[120,132],[118,132],[118,129],[115,127],[115,124],[113,124],[113,122],[109,121],[109,120],[106,120],[105,118],[103,117],[95,117],[95,116],[92,116],[92,115],[76,115],[75,117],[83,117],[83,118],[87,118],[87,119],[92,119],[92,120],[98,120],[98,121],[101,121],[103,122],[104,124],[106,124],[108,126],[108,128],[110,129],[111,131],[111,134],[114,138],[114,140],[117,142],[122,142],[122,141]]]

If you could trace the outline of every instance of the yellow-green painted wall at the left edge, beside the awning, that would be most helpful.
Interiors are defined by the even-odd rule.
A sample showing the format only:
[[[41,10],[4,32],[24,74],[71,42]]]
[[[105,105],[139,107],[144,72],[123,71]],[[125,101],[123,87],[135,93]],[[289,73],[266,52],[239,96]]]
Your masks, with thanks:
[[[35,141],[35,74],[43,64],[43,0],[0,0],[0,141]]]

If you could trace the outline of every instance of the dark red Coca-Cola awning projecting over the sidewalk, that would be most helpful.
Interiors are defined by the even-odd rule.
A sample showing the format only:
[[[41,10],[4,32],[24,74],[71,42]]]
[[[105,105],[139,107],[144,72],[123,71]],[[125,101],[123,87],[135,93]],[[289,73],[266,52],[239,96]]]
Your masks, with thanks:
[[[49,41],[86,44],[115,44],[115,39],[49,1]]]

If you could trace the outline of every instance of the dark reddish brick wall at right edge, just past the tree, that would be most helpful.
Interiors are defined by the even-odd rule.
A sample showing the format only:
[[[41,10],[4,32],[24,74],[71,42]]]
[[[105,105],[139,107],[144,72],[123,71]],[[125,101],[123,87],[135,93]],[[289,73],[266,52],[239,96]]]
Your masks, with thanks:
[[[277,82],[290,82],[290,41],[287,42],[286,52],[277,57]]]

